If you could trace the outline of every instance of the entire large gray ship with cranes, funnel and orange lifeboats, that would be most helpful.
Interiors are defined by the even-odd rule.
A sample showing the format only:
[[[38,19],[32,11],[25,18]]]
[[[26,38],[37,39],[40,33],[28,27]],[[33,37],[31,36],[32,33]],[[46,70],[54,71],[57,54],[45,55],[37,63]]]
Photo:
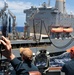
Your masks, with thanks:
[[[16,16],[10,10],[9,14],[5,12],[8,5],[4,3],[5,6],[0,11],[2,23],[0,35],[11,40],[12,51],[16,57],[20,57],[20,47],[30,47],[34,56],[39,50],[45,49],[47,55],[51,57],[65,52],[74,45],[74,15],[67,13],[65,0],[56,0],[55,7],[50,6],[49,0],[48,4],[44,2],[40,7],[31,6],[30,9],[24,10],[26,14],[24,32],[16,31]],[[4,57],[1,60],[7,62]],[[48,74],[64,75],[58,68],[49,70],[46,75]]]

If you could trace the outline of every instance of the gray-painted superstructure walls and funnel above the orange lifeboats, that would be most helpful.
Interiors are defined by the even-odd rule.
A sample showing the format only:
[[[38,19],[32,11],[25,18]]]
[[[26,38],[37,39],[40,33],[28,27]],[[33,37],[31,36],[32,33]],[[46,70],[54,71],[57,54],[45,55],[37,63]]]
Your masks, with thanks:
[[[34,32],[33,20],[38,33],[41,26],[41,20],[45,23],[48,33],[51,26],[72,26],[74,28],[74,15],[63,12],[65,8],[64,3],[65,1],[56,0],[56,7],[51,8],[46,5],[38,8],[31,7],[30,9],[24,10],[24,13],[26,14],[26,23],[29,26],[28,34]],[[42,24],[42,33],[46,34],[44,24]]]

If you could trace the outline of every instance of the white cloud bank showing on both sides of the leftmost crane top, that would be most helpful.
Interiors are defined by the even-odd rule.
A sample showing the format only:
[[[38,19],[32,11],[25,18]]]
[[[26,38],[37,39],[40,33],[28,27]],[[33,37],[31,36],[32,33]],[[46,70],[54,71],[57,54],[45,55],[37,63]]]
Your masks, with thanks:
[[[29,9],[33,4],[31,2],[24,1],[7,1],[8,9],[12,10],[13,13],[23,12],[24,9]],[[4,7],[4,1],[0,0],[0,9]]]

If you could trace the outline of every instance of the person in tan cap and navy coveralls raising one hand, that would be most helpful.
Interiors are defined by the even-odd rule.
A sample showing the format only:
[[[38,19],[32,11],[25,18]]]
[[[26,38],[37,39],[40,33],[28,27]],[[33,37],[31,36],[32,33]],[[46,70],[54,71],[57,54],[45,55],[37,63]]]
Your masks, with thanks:
[[[17,59],[15,55],[12,53],[12,46],[10,40],[6,39],[4,36],[2,36],[2,39],[3,40],[0,40],[0,43],[3,44],[5,47],[5,50],[2,51],[2,55],[5,56],[8,60],[10,60],[10,63],[12,64],[12,66],[16,71],[16,75],[29,75],[30,73],[31,75],[32,74],[41,75],[41,73],[38,71],[38,68],[31,63],[32,51],[30,49],[27,49],[22,52],[22,56],[24,59],[23,60],[24,63],[23,63],[19,59]]]

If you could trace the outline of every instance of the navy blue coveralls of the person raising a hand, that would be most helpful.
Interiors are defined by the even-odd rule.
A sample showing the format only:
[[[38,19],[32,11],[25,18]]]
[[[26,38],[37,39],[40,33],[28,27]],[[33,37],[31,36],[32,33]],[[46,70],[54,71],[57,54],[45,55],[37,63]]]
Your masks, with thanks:
[[[29,71],[38,71],[38,68],[34,64],[29,63],[29,65],[26,62],[21,62],[17,58],[14,58],[10,62],[16,71],[16,75],[29,75]]]

